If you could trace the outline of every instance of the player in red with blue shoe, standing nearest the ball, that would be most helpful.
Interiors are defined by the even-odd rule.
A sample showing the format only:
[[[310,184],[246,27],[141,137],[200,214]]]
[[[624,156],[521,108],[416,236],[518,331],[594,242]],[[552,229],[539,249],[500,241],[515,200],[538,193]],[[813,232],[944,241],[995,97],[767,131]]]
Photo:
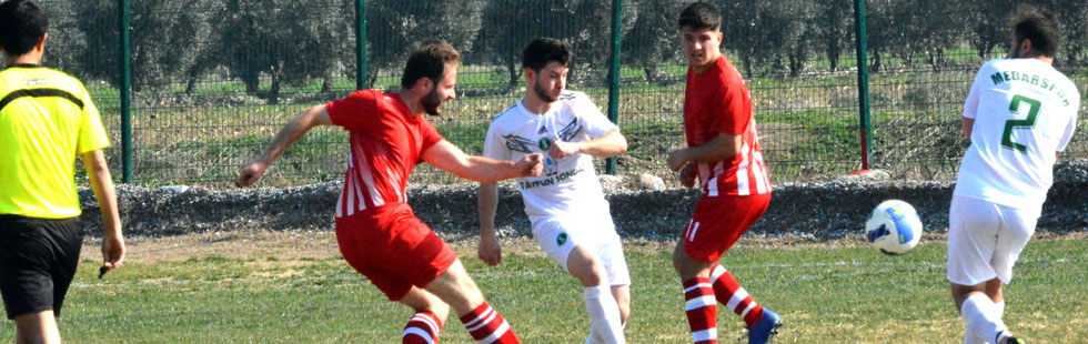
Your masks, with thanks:
[[[777,333],[777,314],[756,304],[716,261],[763,216],[770,202],[770,179],[759,153],[752,98],[744,78],[719,47],[722,14],[705,2],[679,16],[681,41],[687,57],[684,94],[686,149],[668,154],[681,182],[703,198],[673,252],[673,266],[684,282],[685,311],[697,344],[717,343],[717,303],[739,315],[748,343],[766,343]],[[715,302],[716,301],[716,302]]]

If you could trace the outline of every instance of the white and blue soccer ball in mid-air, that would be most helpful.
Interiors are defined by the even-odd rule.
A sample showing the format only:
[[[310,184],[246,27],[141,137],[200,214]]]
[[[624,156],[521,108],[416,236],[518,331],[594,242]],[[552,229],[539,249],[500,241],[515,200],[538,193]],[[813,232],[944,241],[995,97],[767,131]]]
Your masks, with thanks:
[[[884,201],[865,221],[865,237],[884,254],[907,253],[921,237],[921,217],[907,202]]]

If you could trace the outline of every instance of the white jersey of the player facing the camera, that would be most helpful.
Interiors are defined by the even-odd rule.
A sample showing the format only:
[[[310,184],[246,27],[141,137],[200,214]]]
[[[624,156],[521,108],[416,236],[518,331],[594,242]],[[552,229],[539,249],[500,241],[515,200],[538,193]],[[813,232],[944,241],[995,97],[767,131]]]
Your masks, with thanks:
[[[484,156],[511,161],[532,153],[547,156],[547,150],[556,140],[587,141],[615,129],[616,124],[582,92],[564,91],[543,114],[530,112],[518,100],[491,122]],[[525,202],[525,214],[534,224],[562,214],[608,215],[608,202],[594,172],[593,156],[588,154],[558,161],[546,158],[540,176],[516,181]]]

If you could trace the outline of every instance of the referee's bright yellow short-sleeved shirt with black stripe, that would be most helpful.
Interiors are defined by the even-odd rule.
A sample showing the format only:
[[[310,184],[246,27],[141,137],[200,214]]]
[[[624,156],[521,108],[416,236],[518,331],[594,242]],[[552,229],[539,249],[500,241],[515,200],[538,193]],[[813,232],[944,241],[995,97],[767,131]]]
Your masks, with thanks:
[[[79,216],[75,156],[109,145],[79,80],[38,65],[0,71],[0,214]]]

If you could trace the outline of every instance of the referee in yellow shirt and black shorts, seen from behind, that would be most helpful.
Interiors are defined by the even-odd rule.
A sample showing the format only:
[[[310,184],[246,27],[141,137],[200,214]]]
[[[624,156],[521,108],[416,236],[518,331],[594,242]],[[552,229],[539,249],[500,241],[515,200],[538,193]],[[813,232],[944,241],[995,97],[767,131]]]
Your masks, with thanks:
[[[124,259],[109,140],[83,84],[39,65],[48,27],[31,0],[0,4],[0,294],[17,343],[60,343],[54,316],[83,242],[75,155],[102,210],[103,267]]]

